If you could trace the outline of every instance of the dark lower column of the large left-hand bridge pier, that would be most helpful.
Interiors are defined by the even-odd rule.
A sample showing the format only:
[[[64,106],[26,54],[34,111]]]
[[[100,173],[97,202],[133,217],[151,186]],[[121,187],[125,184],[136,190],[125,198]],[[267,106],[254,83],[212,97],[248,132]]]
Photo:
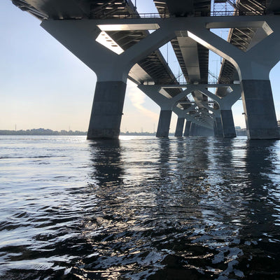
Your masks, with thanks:
[[[87,139],[118,139],[126,83],[97,82]]]

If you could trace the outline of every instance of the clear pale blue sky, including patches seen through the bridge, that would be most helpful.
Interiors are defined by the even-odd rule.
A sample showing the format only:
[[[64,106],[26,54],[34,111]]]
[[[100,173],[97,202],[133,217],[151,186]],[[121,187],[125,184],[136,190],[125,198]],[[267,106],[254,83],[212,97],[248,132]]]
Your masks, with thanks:
[[[134,1],[132,1],[134,3]],[[155,13],[153,0],[137,1],[139,13]],[[40,21],[0,1],[0,130],[87,131],[95,73],[40,27]],[[167,56],[167,47],[162,47]],[[178,64],[169,46],[169,65]],[[217,72],[220,58],[211,53],[209,64]],[[270,73],[276,116],[280,115],[280,64]],[[241,101],[232,106],[235,125],[245,127]],[[160,107],[128,80],[120,130],[153,132],[158,126]],[[170,131],[176,127],[172,114]]]

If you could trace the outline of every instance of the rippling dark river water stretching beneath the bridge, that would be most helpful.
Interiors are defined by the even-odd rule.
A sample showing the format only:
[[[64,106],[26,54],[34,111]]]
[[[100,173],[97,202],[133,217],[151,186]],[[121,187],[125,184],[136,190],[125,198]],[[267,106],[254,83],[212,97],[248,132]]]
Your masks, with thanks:
[[[0,279],[280,279],[280,141],[0,137]]]

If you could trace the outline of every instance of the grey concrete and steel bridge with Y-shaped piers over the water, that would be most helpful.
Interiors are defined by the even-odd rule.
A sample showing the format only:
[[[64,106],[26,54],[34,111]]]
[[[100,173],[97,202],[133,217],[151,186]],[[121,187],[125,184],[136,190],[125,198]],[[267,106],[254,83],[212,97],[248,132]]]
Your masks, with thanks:
[[[168,137],[172,112],[177,137],[236,137],[241,98],[248,139],[279,139],[269,80],[280,60],[279,1],[154,0],[151,14],[130,0],[12,1],[96,73],[87,139],[118,138],[127,78],[160,106],[157,137]],[[160,52],[169,42],[184,83]],[[223,57],[216,83],[209,50]]]

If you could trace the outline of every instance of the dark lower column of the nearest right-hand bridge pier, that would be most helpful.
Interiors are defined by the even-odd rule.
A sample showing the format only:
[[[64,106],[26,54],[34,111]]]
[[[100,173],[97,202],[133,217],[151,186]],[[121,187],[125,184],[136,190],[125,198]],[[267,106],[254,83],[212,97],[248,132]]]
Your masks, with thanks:
[[[279,139],[270,80],[242,80],[248,139]]]

